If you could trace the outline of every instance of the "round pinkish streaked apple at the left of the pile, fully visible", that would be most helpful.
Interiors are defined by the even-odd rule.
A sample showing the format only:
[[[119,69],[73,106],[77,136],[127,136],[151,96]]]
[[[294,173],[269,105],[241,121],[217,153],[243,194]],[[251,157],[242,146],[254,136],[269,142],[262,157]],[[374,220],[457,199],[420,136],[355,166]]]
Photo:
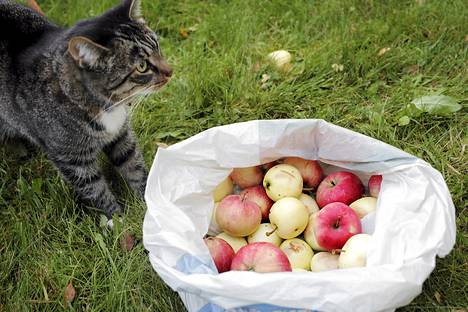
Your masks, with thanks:
[[[216,208],[216,222],[231,236],[247,236],[257,230],[262,221],[258,205],[240,195],[228,195]]]

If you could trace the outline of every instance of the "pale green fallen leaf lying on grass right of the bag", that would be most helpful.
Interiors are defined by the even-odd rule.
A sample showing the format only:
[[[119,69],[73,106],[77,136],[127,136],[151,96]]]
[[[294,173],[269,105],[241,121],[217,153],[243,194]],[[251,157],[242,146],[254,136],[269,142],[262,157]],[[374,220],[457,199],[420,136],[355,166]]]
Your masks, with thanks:
[[[411,103],[420,111],[435,115],[455,113],[462,107],[457,100],[446,95],[423,96],[412,100]]]

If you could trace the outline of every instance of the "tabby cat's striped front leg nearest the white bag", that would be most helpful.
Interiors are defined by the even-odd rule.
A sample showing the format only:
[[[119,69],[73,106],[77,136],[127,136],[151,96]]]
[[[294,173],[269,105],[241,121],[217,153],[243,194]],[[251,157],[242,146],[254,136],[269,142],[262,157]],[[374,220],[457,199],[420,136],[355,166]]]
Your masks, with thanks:
[[[143,197],[148,173],[132,131],[128,128],[122,131],[104,152],[130,188]]]

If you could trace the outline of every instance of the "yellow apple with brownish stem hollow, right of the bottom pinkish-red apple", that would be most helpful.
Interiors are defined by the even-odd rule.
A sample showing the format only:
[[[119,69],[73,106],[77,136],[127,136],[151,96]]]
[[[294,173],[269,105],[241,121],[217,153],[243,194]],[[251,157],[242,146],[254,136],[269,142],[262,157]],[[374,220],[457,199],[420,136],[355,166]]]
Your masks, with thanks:
[[[310,270],[310,261],[314,252],[312,248],[299,238],[285,240],[280,249],[286,254],[293,269]]]

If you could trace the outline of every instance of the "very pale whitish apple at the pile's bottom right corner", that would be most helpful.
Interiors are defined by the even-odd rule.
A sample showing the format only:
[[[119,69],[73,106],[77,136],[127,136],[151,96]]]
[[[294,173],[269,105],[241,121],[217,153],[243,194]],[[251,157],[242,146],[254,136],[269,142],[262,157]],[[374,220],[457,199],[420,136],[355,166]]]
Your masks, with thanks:
[[[348,239],[341,249],[338,267],[340,269],[365,267],[370,238],[369,234],[357,234]]]

